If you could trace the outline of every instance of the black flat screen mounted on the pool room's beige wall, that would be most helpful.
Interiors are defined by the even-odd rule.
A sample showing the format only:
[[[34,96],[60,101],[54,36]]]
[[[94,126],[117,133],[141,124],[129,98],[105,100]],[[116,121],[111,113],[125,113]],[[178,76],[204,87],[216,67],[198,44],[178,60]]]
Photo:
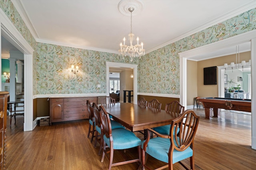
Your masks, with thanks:
[[[204,85],[217,84],[217,66],[204,68]]]

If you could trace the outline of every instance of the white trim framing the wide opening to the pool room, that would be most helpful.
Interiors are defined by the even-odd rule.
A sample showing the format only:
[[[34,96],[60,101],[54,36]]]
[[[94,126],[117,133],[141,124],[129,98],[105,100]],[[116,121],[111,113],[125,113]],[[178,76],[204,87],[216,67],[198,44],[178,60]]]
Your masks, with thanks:
[[[217,49],[222,49],[224,47],[237,45],[246,41],[251,41],[251,59],[252,59],[252,74],[256,74],[256,69],[253,66],[256,66],[256,30],[249,31],[240,35],[236,35],[234,37],[230,37],[228,39],[224,39],[222,41],[218,41],[212,44],[204,45],[202,47],[198,47],[196,49],[192,49],[189,51],[184,51],[179,53],[180,55],[180,103],[187,107],[187,68],[186,63],[187,59],[192,59],[197,55],[204,54],[207,56],[207,53],[216,51]],[[254,114],[254,107],[256,107],[256,89],[254,88],[256,84],[256,79],[252,77],[252,149],[256,149],[256,115]]]

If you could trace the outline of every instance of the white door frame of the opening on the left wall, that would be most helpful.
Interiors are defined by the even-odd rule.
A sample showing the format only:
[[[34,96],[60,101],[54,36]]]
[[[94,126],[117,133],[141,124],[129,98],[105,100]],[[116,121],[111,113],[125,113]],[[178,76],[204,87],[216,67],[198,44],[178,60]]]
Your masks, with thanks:
[[[24,54],[24,131],[32,131],[33,123],[33,52],[34,49],[22,37],[18,29],[0,9],[0,32],[12,45]],[[1,42],[1,41],[0,41]],[[0,43],[1,44],[1,43]],[[0,47],[1,51],[1,47]],[[1,66],[0,69],[2,70]],[[1,83],[1,82],[0,82]],[[1,84],[0,84],[1,85]],[[0,86],[2,88],[2,86]]]

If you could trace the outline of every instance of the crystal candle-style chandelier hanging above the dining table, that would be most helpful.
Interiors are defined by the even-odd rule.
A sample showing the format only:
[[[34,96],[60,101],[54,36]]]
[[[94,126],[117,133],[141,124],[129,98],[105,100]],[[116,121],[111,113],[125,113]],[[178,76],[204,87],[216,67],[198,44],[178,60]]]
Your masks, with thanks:
[[[134,41],[134,34],[132,33],[132,12],[134,11],[134,8],[130,7],[128,8],[128,11],[131,13],[131,33],[128,34],[130,45],[125,45],[124,37],[124,44],[120,43],[120,49],[118,52],[119,56],[122,55],[125,57],[126,55],[129,55],[130,61],[132,61],[134,57],[141,57],[142,55],[145,55],[145,49],[143,49],[143,43],[139,44],[139,37],[137,37],[137,44],[132,45],[132,42]]]

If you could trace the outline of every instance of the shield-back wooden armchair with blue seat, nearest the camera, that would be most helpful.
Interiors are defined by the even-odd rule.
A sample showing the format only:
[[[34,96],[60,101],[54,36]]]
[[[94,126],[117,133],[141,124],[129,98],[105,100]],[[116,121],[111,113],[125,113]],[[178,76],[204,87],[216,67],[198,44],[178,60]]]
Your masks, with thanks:
[[[151,131],[157,137],[152,139],[148,137],[142,141],[142,169],[144,170],[146,167],[150,170],[149,165],[146,165],[145,162],[149,154],[153,158],[168,163],[159,169],[169,167],[169,170],[172,170],[173,164],[179,162],[187,170],[194,170],[194,137],[199,118],[194,111],[186,110],[172,120],[169,135],[162,135],[153,129],[147,129],[148,134]],[[176,126],[180,128],[179,131],[175,128]],[[186,158],[190,158],[190,168],[181,162]]]

